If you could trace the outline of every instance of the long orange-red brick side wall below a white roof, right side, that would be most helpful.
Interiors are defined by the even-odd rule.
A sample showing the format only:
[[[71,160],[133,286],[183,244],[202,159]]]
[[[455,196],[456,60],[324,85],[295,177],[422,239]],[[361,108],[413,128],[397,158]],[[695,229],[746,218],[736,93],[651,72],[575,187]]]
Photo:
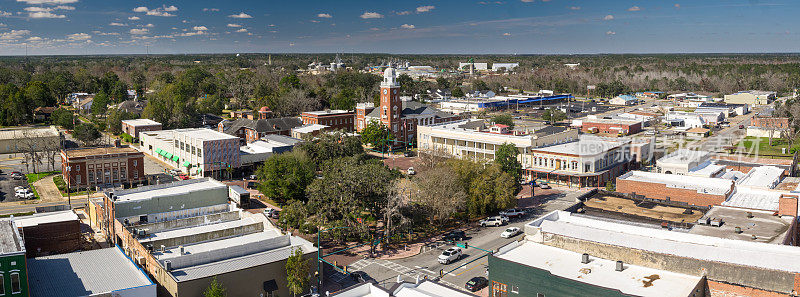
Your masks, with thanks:
[[[733,184],[731,184],[731,189]],[[698,193],[692,189],[670,188],[665,184],[648,183],[617,178],[617,192],[636,193],[647,198],[686,202],[691,205],[710,206],[720,205],[725,201],[726,195],[713,195]],[[730,194],[730,191],[727,193]]]

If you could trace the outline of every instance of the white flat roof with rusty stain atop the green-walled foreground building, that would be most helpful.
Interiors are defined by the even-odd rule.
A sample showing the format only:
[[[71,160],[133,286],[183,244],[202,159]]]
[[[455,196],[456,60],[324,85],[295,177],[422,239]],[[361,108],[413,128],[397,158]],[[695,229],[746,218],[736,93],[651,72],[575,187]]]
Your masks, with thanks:
[[[573,281],[619,290],[630,296],[692,296],[692,291],[701,281],[698,276],[629,264],[624,264],[623,271],[616,271],[616,261],[591,256],[590,262],[583,264],[579,253],[528,240],[495,254],[495,257],[546,270]]]

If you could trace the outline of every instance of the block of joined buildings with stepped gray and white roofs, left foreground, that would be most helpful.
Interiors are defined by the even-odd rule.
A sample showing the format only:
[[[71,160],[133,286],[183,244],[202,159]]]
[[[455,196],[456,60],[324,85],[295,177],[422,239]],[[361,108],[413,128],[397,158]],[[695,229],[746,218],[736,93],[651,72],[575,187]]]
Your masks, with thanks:
[[[289,296],[287,258],[299,249],[314,267],[317,249],[242,211],[229,191],[201,178],[106,192],[90,215],[158,284],[159,296],[201,296],[215,278],[228,296]]]

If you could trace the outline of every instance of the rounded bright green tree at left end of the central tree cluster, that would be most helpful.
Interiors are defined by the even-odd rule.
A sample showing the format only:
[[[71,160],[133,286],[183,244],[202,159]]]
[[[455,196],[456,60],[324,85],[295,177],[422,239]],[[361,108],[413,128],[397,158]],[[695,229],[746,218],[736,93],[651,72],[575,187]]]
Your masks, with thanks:
[[[281,205],[305,200],[314,175],[314,164],[300,151],[272,155],[256,172],[258,190]]]

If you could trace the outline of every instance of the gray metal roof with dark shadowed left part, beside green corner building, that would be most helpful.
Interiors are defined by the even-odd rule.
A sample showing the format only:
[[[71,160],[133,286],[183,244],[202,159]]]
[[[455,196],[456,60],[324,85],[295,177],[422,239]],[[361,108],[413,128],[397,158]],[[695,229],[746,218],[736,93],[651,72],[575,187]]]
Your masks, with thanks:
[[[31,297],[89,296],[155,285],[119,248],[28,260]]]

